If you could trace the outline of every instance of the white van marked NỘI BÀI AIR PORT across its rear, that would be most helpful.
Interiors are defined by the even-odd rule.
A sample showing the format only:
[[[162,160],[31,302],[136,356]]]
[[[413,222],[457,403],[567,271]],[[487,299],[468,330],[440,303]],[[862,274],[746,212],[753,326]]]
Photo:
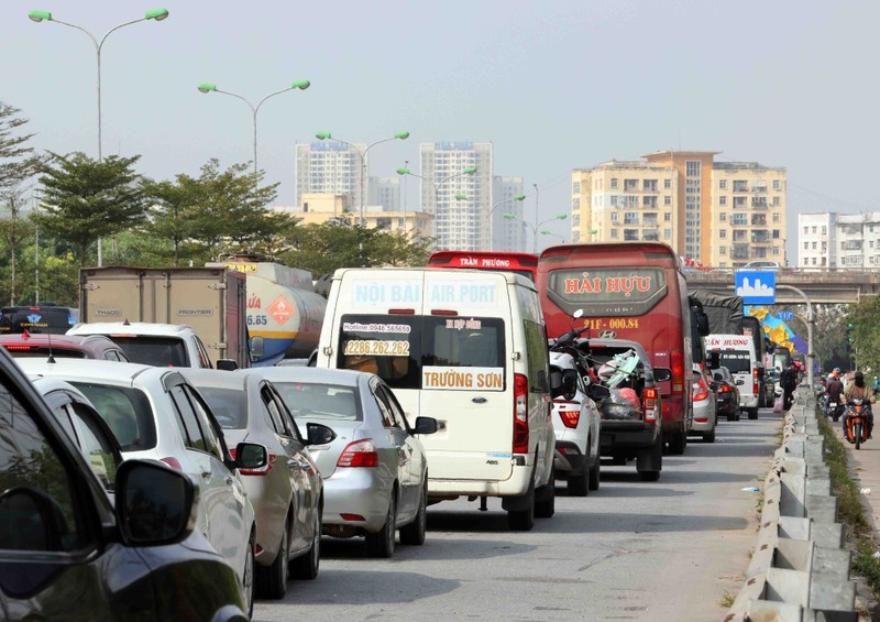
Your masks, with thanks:
[[[421,441],[429,501],[501,496],[513,530],[554,510],[554,435],[543,316],[509,272],[341,269],[317,367],[380,375]]]

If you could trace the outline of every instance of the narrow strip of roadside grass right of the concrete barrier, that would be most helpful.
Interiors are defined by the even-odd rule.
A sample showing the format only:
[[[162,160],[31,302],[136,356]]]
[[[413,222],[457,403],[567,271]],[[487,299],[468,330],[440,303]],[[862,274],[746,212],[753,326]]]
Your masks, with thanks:
[[[873,538],[865,506],[861,503],[859,487],[849,470],[844,444],[834,435],[828,421],[820,415],[818,428],[825,437],[825,463],[832,476],[832,492],[837,496],[840,521],[847,525],[847,539],[854,545],[853,571],[862,577],[880,600],[880,558],[873,557],[878,544]]]

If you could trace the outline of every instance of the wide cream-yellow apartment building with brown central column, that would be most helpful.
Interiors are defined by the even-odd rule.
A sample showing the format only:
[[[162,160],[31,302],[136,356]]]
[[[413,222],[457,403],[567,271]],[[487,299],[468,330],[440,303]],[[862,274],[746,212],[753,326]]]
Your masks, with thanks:
[[[704,265],[785,259],[785,170],[662,151],[572,172],[572,240],[656,240]]]

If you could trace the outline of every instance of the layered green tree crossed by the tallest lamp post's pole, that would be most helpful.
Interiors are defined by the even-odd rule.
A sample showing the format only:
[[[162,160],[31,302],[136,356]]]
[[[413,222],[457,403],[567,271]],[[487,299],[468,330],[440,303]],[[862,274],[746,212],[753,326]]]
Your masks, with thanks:
[[[98,162],[84,153],[52,154],[41,166],[45,215],[41,230],[70,242],[80,265],[88,261],[89,247],[99,238],[114,236],[144,218],[143,189],[132,170],[140,155],[111,155]]]

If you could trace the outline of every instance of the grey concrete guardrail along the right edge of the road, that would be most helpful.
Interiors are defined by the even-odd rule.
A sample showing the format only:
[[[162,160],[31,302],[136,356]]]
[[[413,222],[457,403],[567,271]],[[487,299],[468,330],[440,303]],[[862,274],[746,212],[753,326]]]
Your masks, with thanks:
[[[725,622],[848,622],[856,582],[837,522],[815,396],[804,386],[785,415],[783,440],[765,478],[758,543]]]

